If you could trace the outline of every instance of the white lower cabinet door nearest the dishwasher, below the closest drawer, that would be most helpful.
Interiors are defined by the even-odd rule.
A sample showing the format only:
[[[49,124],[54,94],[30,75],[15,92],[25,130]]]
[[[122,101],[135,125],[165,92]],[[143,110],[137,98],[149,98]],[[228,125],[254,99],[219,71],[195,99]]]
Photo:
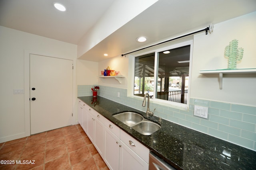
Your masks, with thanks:
[[[119,170],[148,170],[148,164],[120,141]]]

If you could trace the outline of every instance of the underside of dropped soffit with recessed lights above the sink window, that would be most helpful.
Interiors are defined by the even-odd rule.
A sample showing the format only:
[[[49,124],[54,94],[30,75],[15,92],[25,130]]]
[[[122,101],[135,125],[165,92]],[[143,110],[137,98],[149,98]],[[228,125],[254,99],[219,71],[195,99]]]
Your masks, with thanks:
[[[79,59],[106,60],[254,11],[256,0],[159,0]],[[148,40],[138,43],[139,36],[146,36]]]

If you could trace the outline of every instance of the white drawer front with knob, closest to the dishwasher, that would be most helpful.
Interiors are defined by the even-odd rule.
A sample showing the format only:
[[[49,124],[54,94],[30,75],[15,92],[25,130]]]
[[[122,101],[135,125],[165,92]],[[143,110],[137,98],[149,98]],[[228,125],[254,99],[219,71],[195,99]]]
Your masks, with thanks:
[[[132,149],[138,156],[140,156],[146,163],[149,161],[149,149],[138,142],[136,139],[120,130],[120,139]]]

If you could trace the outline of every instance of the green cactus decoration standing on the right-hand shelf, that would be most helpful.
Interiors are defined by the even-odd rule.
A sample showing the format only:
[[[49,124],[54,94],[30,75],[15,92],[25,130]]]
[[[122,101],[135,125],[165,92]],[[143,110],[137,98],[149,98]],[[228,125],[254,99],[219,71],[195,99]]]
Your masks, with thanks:
[[[233,39],[229,45],[226,46],[224,57],[228,58],[228,69],[236,69],[237,61],[242,60],[244,49],[238,48],[238,40]]]

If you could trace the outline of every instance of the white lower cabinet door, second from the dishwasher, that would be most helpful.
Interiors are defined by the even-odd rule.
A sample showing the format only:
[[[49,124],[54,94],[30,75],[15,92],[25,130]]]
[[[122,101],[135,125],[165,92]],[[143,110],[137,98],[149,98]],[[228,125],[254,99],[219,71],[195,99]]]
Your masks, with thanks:
[[[119,145],[120,139],[110,130],[105,130],[105,154],[104,161],[110,170],[119,168]]]

